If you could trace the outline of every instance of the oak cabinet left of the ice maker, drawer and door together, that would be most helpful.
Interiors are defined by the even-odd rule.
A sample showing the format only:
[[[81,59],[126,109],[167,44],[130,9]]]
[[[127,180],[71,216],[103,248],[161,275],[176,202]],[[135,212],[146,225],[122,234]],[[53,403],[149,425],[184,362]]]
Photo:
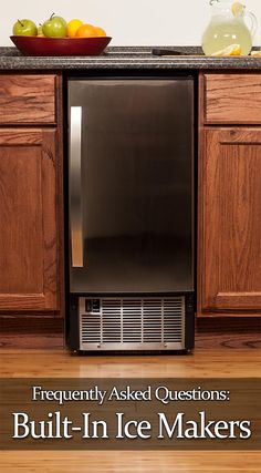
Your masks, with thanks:
[[[62,75],[3,73],[0,90],[0,313],[22,326],[63,315]]]

